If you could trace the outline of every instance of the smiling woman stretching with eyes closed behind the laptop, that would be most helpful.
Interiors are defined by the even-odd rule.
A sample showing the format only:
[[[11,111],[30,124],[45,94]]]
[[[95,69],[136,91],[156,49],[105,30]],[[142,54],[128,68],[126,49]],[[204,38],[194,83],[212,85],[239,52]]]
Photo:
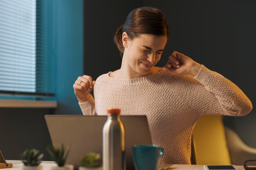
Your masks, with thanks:
[[[153,144],[165,151],[159,162],[190,164],[191,133],[200,116],[243,116],[252,103],[227,78],[180,52],[155,67],[169,35],[159,9],[131,11],[114,38],[121,68],[96,81],[79,76],[73,87],[84,115],[106,115],[111,107],[121,108],[121,115],[146,115]]]

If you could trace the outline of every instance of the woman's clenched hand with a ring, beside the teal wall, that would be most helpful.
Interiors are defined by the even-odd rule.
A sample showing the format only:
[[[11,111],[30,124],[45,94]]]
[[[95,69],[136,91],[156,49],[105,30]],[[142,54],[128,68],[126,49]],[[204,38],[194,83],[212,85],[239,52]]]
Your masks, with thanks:
[[[74,92],[79,102],[85,102],[90,98],[90,92],[94,88],[95,81],[92,81],[91,76],[79,76],[74,85]]]

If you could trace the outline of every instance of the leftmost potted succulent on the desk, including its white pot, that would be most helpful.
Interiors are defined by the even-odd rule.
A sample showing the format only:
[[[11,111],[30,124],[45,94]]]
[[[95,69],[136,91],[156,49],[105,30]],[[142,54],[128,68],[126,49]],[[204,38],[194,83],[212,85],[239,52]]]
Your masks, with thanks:
[[[43,170],[43,166],[40,166],[43,154],[39,154],[39,150],[26,149],[20,154],[20,160],[24,163],[22,170]]]

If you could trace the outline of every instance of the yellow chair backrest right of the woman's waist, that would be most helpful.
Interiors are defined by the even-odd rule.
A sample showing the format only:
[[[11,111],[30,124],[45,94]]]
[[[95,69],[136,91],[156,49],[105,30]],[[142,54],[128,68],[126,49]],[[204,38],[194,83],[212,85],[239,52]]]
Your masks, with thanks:
[[[222,116],[201,116],[193,129],[198,164],[231,164]]]

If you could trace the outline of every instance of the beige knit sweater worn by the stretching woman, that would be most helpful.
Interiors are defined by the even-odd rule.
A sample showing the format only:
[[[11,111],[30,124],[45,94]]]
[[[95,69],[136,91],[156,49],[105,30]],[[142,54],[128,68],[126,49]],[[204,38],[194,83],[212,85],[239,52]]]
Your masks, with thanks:
[[[146,115],[153,144],[164,148],[159,163],[190,164],[191,133],[201,115],[244,116],[251,101],[234,83],[201,66],[198,75],[174,76],[165,70],[133,79],[99,76],[94,98],[79,103],[83,115]]]

